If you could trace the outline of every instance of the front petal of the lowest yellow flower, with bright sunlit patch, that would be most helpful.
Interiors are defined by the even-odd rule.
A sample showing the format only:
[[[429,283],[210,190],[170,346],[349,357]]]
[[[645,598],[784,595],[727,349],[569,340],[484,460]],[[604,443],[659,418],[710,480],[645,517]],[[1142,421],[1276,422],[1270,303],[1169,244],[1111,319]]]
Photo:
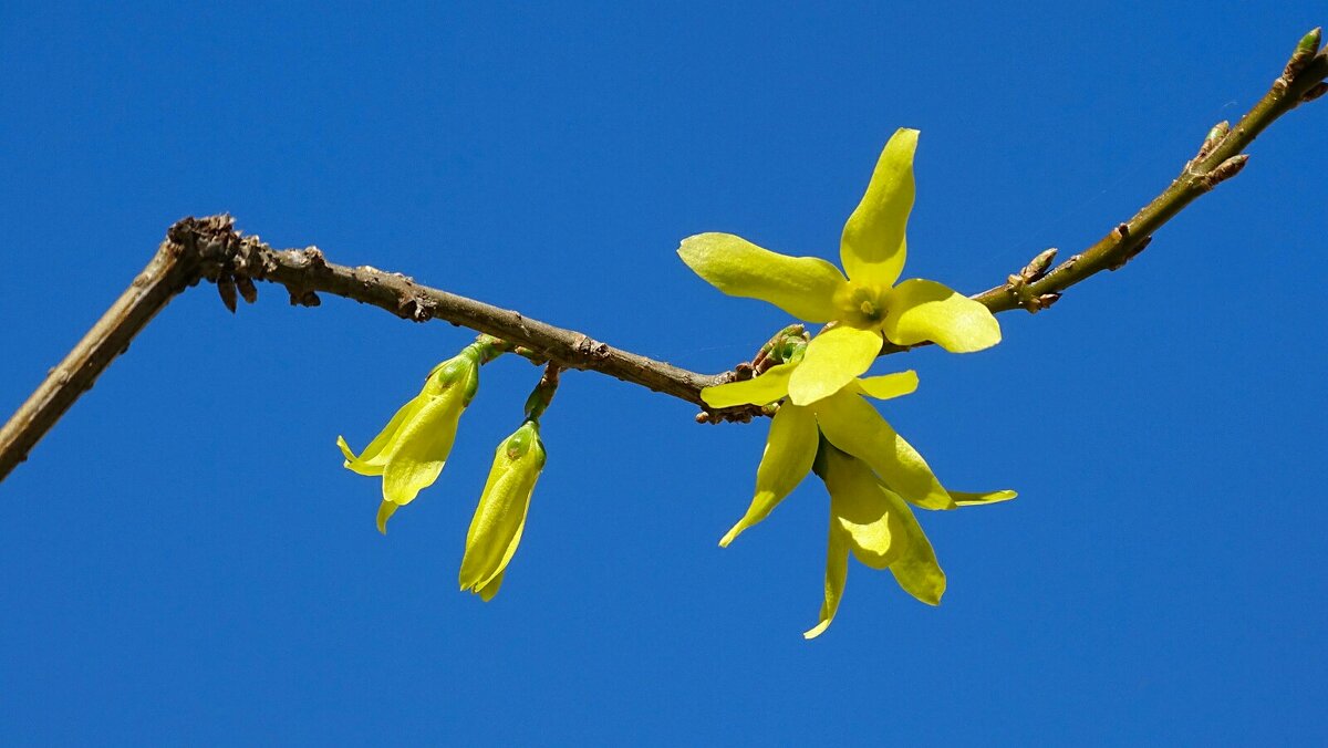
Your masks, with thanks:
[[[821,446],[818,472],[830,492],[830,521],[847,533],[853,555],[871,569],[888,567],[906,550],[908,506],[899,497],[891,504],[866,462],[831,445]]]

